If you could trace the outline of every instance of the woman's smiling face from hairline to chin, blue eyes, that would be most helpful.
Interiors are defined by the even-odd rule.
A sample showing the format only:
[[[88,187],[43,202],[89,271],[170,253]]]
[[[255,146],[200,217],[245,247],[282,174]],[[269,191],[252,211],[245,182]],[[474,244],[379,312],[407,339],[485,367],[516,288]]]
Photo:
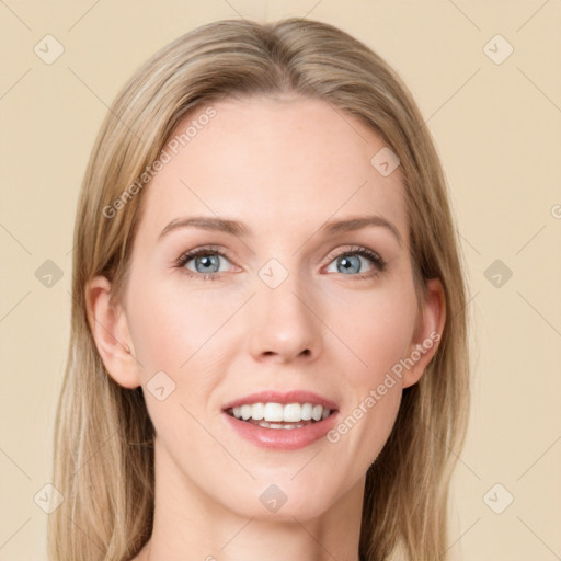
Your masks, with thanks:
[[[434,302],[416,316],[400,168],[387,149],[371,163],[380,137],[322,101],[206,108],[139,195],[117,337],[138,362],[105,364],[142,386],[178,499],[276,519],[356,506],[444,320]]]

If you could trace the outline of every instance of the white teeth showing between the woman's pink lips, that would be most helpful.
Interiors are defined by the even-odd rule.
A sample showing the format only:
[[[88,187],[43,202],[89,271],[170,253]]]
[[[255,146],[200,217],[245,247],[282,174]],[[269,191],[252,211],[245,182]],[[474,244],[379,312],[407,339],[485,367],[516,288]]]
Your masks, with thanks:
[[[300,421],[320,421],[331,414],[331,410],[323,405],[312,405],[311,403],[252,403],[243,404],[231,410],[236,419],[248,421],[263,421],[257,423],[267,428],[297,428],[298,425],[284,425],[274,423],[299,423]],[[301,425],[304,426],[304,425]]]

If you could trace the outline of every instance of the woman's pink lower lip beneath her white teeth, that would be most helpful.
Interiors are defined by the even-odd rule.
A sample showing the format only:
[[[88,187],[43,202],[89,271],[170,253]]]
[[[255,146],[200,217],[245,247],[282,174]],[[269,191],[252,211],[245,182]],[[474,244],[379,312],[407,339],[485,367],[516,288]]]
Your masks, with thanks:
[[[277,450],[296,450],[305,448],[310,444],[323,438],[335,423],[336,412],[327,419],[302,426],[300,428],[265,428],[240,421],[228,413],[222,413],[231,427],[238,434],[263,448],[274,448]]]

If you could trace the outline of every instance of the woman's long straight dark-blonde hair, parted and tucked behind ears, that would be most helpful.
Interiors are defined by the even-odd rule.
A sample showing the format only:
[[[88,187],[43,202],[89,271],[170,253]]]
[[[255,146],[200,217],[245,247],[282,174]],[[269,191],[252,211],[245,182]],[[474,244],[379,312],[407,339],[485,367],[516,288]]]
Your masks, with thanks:
[[[85,284],[105,275],[118,301],[141,190],[114,202],[156,161],[187,112],[251,94],[331,103],[381,136],[401,161],[417,298],[438,277],[446,304],[439,347],[403,392],[393,431],[366,477],[362,559],[446,559],[448,488],[469,410],[467,286],[444,175],[409,90],[378,55],[331,25],[227,20],[162,48],[117,95],[82,183],[75,228],[71,339],[55,427],[51,561],[126,561],[153,522],[154,430],[141,388],[106,373],[88,322]],[[148,187],[149,188],[149,187]],[[136,192],[135,192],[136,193]],[[107,210],[113,208],[113,211]]]

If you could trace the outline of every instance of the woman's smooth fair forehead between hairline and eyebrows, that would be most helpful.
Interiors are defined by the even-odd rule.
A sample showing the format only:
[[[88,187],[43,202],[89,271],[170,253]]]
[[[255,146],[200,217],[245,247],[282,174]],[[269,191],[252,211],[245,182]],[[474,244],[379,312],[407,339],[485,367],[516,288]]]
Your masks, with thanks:
[[[144,194],[142,221],[161,230],[206,214],[305,233],[330,218],[370,213],[407,239],[400,170],[383,176],[370,163],[383,147],[373,129],[321,100],[202,105],[168,139],[168,162]]]

